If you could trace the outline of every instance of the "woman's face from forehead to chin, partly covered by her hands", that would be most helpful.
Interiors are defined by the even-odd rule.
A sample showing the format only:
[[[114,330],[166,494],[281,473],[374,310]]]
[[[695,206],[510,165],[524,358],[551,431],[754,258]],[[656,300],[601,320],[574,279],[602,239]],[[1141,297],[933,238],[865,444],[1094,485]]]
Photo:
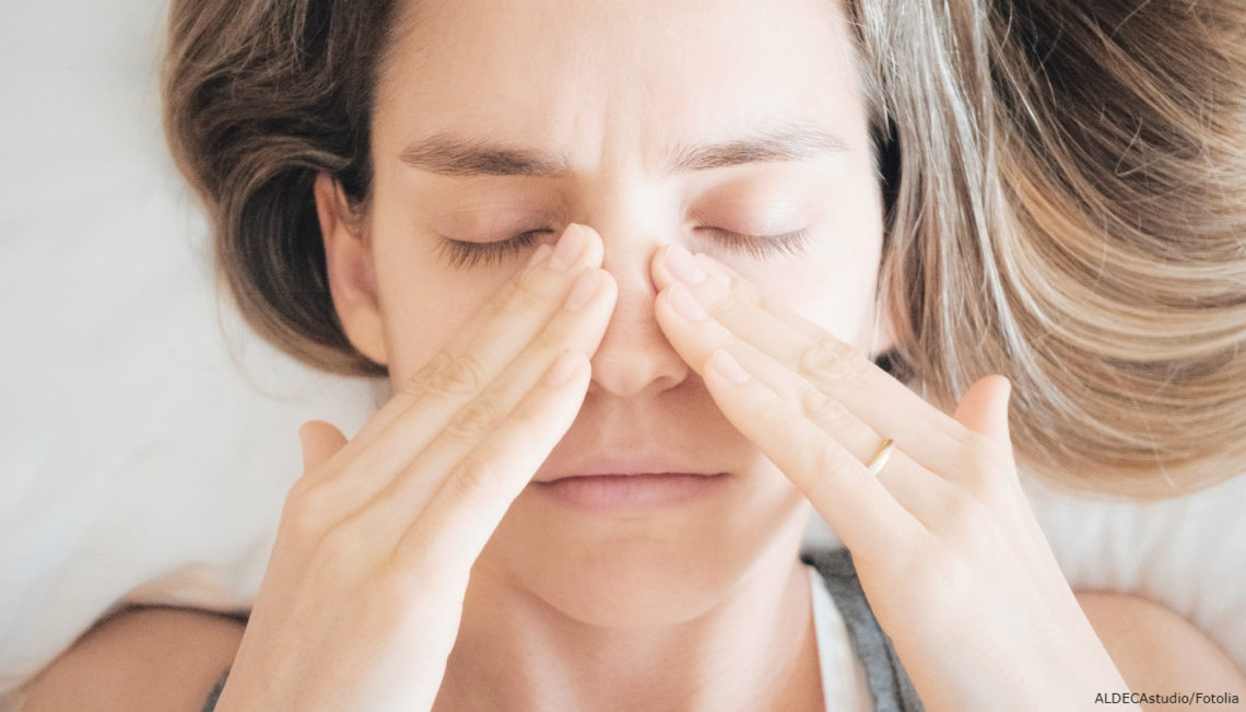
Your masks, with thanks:
[[[420,0],[401,14],[374,113],[370,252],[331,267],[335,299],[375,289],[370,317],[339,305],[351,339],[397,385],[535,249],[456,259],[444,237],[553,242],[591,226],[618,303],[542,474],[637,451],[726,474],[709,495],[625,514],[530,486],[475,575],[586,622],[644,625],[689,618],[765,561],[790,561],[804,499],[667,343],[650,258],[672,242],[708,252],[871,347],[881,208],[849,32],[834,0]],[[457,156],[468,148],[562,170],[450,170],[472,165]]]

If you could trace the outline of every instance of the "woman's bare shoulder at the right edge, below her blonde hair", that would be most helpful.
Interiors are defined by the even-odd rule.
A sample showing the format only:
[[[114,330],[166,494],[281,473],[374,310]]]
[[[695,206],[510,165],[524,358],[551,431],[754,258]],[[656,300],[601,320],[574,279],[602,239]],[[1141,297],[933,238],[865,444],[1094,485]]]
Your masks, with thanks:
[[[1232,692],[1246,676],[1206,633],[1141,596],[1083,591],[1078,602],[1134,692]]]

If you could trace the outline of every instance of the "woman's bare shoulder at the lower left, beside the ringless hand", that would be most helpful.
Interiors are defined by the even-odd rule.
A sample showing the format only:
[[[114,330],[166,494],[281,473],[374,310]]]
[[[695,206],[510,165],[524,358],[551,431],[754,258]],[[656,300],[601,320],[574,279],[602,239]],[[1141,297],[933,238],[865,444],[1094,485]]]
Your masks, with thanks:
[[[206,611],[122,610],[45,667],[25,688],[22,710],[198,710],[242,632],[235,618]]]

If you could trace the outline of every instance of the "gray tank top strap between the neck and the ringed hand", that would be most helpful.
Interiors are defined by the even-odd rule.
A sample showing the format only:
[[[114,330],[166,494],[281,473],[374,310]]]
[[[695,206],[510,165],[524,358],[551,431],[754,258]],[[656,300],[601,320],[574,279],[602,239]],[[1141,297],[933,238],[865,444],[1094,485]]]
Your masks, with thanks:
[[[826,582],[826,590],[844,618],[852,648],[865,670],[866,687],[875,712],[923,712],[921,700],[900,665],[891,638],[878,626],[866,602],[849,550],[811,550],[801,555],[801,561],[814,566]]]

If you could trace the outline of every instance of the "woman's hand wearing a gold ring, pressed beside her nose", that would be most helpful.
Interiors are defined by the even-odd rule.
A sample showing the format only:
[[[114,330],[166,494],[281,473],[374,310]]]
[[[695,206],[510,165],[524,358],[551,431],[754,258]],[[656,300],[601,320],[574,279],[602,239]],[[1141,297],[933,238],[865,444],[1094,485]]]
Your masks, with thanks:
[[[1089,710],[1126,690],[1020,489],[1007,379],[949,416],[708,256],[670,246],[653,272],[667,338],[852,552],[927,710]]]

